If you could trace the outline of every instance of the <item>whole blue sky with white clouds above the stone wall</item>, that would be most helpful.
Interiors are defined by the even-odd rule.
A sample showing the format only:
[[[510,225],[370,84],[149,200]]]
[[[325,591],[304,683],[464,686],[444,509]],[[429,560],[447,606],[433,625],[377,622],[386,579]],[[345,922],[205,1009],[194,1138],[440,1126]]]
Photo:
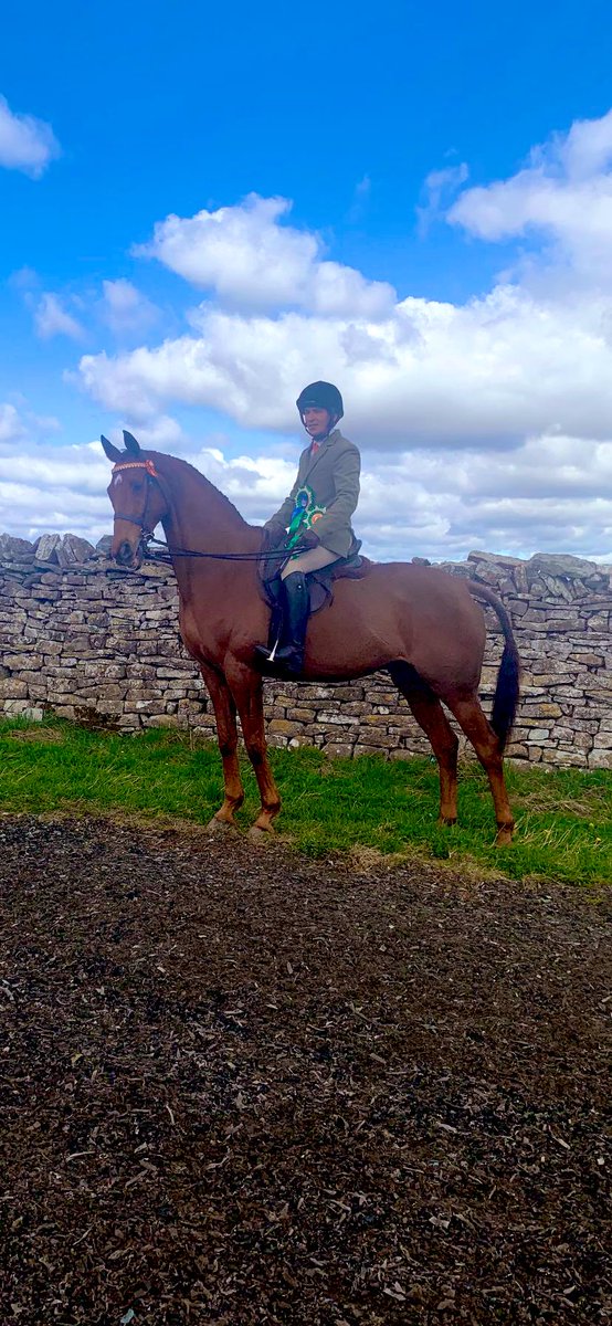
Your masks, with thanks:
[[[90,444],[121,424],[265,518],[322,375],[375,554],[612,556],[612,240],[574,220],[608,202],[608,5],[13,3],[3,28],[3,528],[106,528]],[[38,167],[7,147],[21,117]]]

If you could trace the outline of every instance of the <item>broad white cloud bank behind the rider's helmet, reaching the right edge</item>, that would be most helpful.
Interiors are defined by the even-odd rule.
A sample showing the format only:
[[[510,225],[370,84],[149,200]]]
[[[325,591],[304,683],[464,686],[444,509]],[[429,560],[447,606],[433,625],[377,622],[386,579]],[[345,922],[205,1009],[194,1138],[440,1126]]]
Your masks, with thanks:
[[[184,402],[282,432],[295,426],[298,389],[325,377],[338,381],[347,426],[370,447],[505,447],[546,431],[608,438],[604,313],[612,314],[605,301],[552,306],[510,285],[460,308],[408,298],[372,324],[207,308],[199,335],[85,355],[79,371],[111,410],[146,416]]]

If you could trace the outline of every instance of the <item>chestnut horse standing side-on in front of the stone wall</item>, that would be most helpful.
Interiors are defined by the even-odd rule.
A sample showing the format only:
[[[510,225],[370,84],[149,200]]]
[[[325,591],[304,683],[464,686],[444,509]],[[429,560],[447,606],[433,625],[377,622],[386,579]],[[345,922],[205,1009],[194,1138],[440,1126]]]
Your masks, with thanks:
[[[125,432],[125,451],[106,438],[114,461],[111,554],[138,569],[160,521],[176,574],[180,634],[196,659],[215,707],[225,798],[215,825],[233,825],[244,800],[236,715],[261,796],[256,830],[270,830],[281,809],[266,754],[262,678],[253,647],[265,642],[269,607],[258,585],[261,528],[248,525],[228,499],[184,460],[142,451]],[[199,553],[179,557],[178,550]],[[244,560],[223,560],[248,554]],[[505,636],[489,723],[478,699],[485,619],[474,597],[489,603]],[[485,586],[404,562],[371,564],[363,579],[338,579],[332,602],[311,618],[306,682],[346,682],[387,668],[427,733],[440,769],[440,819],[457,818],[458,740],[441,700],[484,765],[493,794],[497,842],[511,841],[514,819],[503,781],[502,752],[518,704],[519,662],[506,609]]]

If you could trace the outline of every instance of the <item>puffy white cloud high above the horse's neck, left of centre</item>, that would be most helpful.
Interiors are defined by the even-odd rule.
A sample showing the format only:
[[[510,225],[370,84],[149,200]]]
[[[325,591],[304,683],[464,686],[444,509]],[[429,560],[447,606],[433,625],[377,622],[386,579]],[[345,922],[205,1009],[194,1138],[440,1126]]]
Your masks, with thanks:
[[[384,281],[322,257],[317,235],[286,225],[285,198],[250,194],[237,207],[167,216],[150,244],[135,252],[156,257],[192,285],[241,309],[306,308],[323,316],[382,317],[393,301]]]

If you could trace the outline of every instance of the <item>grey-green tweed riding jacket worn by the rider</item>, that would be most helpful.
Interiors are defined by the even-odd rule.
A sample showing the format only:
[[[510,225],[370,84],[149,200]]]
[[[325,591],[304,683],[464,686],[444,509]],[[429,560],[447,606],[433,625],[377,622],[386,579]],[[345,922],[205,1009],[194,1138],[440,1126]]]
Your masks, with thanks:
[[[321,544],[336,557],[347,557],[355,542],[351,516],[359,500],[359,472],[358,448],[343,438],[339,428],[334,428],[314,456],[310,446],[302,451],[291,492],[266,524],[282,520],[287,526],[299,489],[309,487],[317,507],[325,508],[325,514],[313,525]]]

